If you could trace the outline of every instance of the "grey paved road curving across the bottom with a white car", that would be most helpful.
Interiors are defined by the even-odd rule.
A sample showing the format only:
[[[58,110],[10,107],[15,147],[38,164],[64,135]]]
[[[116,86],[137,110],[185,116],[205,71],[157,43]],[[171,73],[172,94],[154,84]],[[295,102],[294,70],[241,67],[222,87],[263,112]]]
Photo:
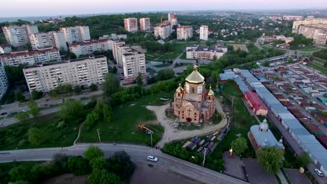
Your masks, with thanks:
[[[16,151],[0,151],[0,162],[17,161],[38,161],[38,160],[51,160],[52,156],[56,153],[64,153],[66,155],[82,155],[83,151],[91,144],[78,144],[75,146],[64,148],[40,148],[40,149],[26,149]],[[156,167],[165,167],[170,171],[187,176],[196,181],[203,183],[246,183],[237,178],[220,174],[210,169],[205,169],[196,164],[174,158],[170,155],[161,153],[161,151],[147,147],[137,146],[131,144],[95,144],[99,146],[106,157],[109,157],[116,151],[126,151],[131,156],[133,162],[144,162],[147,155],[154,155],[159,158],[158,162],[154,162]]]

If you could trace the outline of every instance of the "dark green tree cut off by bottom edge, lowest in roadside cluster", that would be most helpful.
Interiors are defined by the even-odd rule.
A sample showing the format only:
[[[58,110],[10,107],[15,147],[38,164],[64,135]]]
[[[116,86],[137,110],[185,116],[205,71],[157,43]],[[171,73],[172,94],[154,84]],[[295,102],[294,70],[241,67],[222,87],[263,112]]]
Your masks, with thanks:
[[[109,173],[106,169],[94,169],[87,179],[87,184],[119,184],[119,176]]]

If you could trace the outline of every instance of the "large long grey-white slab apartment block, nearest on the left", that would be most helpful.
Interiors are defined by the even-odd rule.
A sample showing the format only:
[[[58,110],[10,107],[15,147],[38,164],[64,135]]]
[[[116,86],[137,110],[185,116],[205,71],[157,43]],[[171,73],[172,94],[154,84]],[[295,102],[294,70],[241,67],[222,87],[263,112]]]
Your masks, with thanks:
[[[106,56],[94,56],[71,61],[43,63],[23,69],[29,92],[49,92],[59,84],[90,86],[102,84],[108,74]]]

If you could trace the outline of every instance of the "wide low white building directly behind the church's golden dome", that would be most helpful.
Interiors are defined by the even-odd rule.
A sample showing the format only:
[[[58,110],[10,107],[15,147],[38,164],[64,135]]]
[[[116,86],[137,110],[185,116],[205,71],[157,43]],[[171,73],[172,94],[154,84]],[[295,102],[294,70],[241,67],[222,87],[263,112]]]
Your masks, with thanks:
[[[212,60],[215,57],[219,59],[227,52],[225,47],[208,47],[201,45],[194,45],[187,47],[187,59],[209,59]]]

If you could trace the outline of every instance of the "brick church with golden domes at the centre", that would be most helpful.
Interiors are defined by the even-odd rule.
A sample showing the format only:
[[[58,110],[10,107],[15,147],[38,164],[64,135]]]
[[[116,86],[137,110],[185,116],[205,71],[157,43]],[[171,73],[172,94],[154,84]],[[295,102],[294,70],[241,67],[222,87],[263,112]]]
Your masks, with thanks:
[[[178,86],[174,95],[174,114],[180,122],[202,123],[209,121],[215,112],[215,93],[205,89],[205,78],[194,66],[185,79],[184,89]]]

